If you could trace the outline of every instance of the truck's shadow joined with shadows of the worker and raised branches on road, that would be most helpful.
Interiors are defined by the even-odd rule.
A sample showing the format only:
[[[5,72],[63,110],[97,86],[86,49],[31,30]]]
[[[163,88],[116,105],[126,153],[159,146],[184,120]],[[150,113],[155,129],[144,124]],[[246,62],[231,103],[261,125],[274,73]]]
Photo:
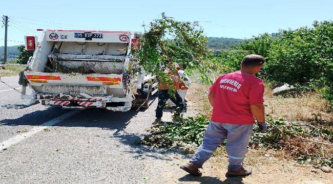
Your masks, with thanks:
[[[152,98],[150,103],[153,103],[157,98]],[[152,109],[153,108],[153,109]],[[155,149],[148,146],[140,145],[140,141],[144,134],[144,131],[138,131],[138,133],[126,132],[126,127],[131,121],[133,123],[140,123],[140,121],[148,121],[145,126],[149,126],[154,121],[154,115],[149,115],[152,118],[144,119],[135,117],[139,112],[147,111],[147,113],[154,113],[154,106],[149,109],[133,108],[127,112],[115,112],[107,109],[87,108],[74,114],[72,117],[61,121],[53,126],[57,127],[92,127],[101,128],[102,130],[112,130],[107,137],[101,137],[103,139],[117,139],[123,145],[128,145],[132,148],[131,151],[126,151],[133,156],[133,158],[141,159],[143,157],[152,157],[156,159],[172,160],[165,155],[173,155],[174,150]],[[39,126],[40,124],[52,120],[61,114],[70,111],[70,109],[63,109],[61,107],[49,107],[45,110],[37,110],[31,113],[26,113],[22,117],[16,119],[5,119],[0,121],[0,125],[6,126],[18,126],[18,125],[30,125]],[[152,121],[152,122],[149,122]],[[132,127],[133,128],[133,127]],[[139,128],[139,127],[138,127]],[[142,129],[140,127],[139,129]],[[185,156],[184,156],[185,159]]]

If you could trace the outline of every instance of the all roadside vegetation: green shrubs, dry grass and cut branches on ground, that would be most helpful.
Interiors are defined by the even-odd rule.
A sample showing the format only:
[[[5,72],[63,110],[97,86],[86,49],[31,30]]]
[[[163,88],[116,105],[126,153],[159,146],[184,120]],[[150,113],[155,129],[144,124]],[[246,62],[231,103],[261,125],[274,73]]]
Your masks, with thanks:
[[[259,54],[266,63],[258,77],[265,81],[267,131],[254,133],[250,147],[273,150],[298,163],[333,167],[333,22],[314,22],[311,28],[263,34],[234,46],[235,51],[207,53],[199,66],[182,60],[195,81],[188,101],[200,114],[160,122],[142,143],[154,147],[176,146],[193,151],[202,141],[210,121],[207,87],[220,75],[240,69],[247,54]],[[237,51],[236,51],[237,50]],[[239,52],[242,50],[242,52]],[[177,52],[173,53],[177,56]],[[149,61],[148,61],[149,62]],[[288,83],[296,89],[273,95],[272,89]],[[221,147],[223,149],[223,145]],[[218,152],[217,152],[218,154]]]

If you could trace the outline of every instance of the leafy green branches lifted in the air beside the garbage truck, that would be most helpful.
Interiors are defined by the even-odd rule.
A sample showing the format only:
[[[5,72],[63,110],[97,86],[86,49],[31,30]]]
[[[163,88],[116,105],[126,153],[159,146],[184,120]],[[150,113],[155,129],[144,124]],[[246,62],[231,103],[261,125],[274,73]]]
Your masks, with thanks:
[[[145,71],[159,77],[161,83],[171,80],[164,70],[175,71],[177,64],[184,68],[198,69],[202,76],[209,71],[207,39],[197,22],[177,21],[161,14],[150,23],[149,31],[142,35],[140,50],[132,53]]]

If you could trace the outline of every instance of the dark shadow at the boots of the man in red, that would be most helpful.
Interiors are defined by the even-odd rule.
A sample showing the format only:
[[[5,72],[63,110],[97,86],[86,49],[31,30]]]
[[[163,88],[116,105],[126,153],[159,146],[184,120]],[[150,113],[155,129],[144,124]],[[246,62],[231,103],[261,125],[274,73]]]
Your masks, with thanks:
[[[202,184],[205,183],[216,183],[216,184],[244,184],[243,177],[232,177],[232,178],[226,178],[225,180],[221,181],[217,177],[211,177],[211,176],[192,176],[190,174],[185,175],[178,179],[179,181],[197,181]]]

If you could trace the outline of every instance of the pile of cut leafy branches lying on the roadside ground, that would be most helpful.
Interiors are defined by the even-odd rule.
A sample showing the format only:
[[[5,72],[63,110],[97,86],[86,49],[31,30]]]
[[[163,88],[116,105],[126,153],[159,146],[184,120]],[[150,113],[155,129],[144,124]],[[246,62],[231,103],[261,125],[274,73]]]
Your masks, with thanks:
[[[141,143],[154,147],[199,146],[210,119],[201,114],[188,119],[179,117],[177,121],[179,123],[169,123],[167,126],[164,126],[163,122],[153,126],[150,129],[151,134],[145,136]],[[332,146],[308,142],[300,137],[310,137],[310,139],[320,137],[331,142],[333,130],[315,126],[304,127],[299,123],[287,122],[283,119],[274,120],[268,116],[267,131],[258,133],[258,127],[255,126],[250,145],[285,150],[299,162],[333,166]]]

